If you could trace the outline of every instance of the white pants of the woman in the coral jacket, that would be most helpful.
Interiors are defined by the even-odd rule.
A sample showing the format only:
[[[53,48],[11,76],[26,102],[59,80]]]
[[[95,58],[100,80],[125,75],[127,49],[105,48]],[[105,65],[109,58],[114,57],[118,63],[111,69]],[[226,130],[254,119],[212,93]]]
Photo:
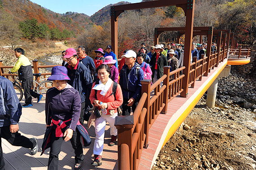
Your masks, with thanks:
[[[100,118],[97,118],[95,120],[96,138],[93,146],[94,155],[102,155],[106,122],[108,122],[110,125],[110,135],[117,135],[117,129],[115,127],[115,117],[117,117],[117,113],[115,113],[114,115],[102,114]]]

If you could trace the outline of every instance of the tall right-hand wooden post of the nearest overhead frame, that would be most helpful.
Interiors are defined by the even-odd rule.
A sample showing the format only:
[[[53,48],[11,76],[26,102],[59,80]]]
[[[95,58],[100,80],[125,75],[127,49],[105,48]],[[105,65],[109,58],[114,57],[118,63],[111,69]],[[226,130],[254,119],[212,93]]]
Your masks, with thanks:
[[[184,48],[184,61],[183,61],[183,66],[185,66],[185,69],[183,70],[183,74],[185,74],[185,77],[182,79],[182,88],[184,90],[183,92],[181,92],[181,97],[188,96],[191,44],[192,44],[193,24],[194,24],[194,2],[195,0],[189,0],[186,7],[185,48]]]

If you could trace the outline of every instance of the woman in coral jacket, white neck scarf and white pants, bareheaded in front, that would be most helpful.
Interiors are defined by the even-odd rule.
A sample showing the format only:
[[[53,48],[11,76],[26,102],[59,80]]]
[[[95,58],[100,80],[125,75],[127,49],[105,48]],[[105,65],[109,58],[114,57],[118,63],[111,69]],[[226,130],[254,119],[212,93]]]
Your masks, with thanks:
[[[93,105],[97,106],[97,108],[102,111],[102,116],[95,120],[96,139],[93,147],[94,160],[92,165],[100,166],[102,165],[106,122],[110,125],[111,141],[109,145],[115,145],[117,137],[115,117],[118,116],[117,108],[123,103],[123,94],[120,85],[109,78],[111,72],[108,65],[99,65],[96,71],[100,81],[93,83],[90,100]],[[114,83],[116,86],[115,94],[113,94]]]

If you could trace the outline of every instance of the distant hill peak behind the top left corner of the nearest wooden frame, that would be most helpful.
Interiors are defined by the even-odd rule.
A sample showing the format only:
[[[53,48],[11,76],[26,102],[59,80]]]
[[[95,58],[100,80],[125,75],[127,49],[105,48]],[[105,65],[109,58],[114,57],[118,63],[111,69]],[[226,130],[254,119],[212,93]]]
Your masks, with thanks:
[[[130,2],[122,1],[116,4],[109,4],[104,8],[100,9],[97,13],[94,13],[90,19],[97,25],[102,25],[110,20],[110,7],[115,5],[130,4]]]

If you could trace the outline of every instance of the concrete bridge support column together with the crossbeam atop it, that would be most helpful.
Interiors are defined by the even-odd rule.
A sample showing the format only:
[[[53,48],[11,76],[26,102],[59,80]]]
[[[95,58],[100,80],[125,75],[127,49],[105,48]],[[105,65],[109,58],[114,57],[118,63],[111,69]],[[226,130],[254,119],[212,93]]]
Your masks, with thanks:
[[[206,105],[209,108],[215,107],[215,100],[216,100],[216,93],[217,93],[219,78],[229,76],[229,75],[230,75],[230,65],[226,65],[225,68],[221,71],[221,74],[214,80],[212,85],[208,88]]]

